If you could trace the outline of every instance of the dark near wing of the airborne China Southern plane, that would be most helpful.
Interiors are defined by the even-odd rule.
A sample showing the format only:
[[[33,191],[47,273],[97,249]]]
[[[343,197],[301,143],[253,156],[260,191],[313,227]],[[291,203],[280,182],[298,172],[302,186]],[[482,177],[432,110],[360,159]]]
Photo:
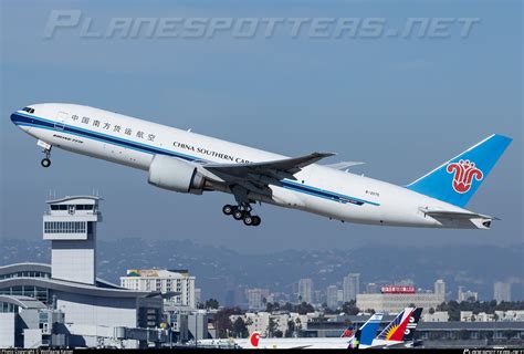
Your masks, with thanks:
[[[313,153],[306,156],[283,158],[262,163],[247,164],[207,164],[202,167],[222,178],[230,186],[243,188],[263,195],[269,195],[269,185],[281,186],[282,179],[296,180],[294,174],[307,165],[333,156],[333,153]]]

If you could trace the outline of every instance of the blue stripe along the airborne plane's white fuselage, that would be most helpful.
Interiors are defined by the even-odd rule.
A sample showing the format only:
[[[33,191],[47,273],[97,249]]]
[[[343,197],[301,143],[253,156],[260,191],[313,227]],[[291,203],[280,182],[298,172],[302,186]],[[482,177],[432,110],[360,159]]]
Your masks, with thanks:
[[[64,133],[67,133],[67,134],[80,135],[80,136],[84,136],[84,137],[95,139],[95,140],[98,140],[98,142],[109,143],[109,144],[113,144],[113,145],[123,146],[123,147],[126,147],[126,148],[130,148],[130,149],[134,149],[134,150],[147,153],[147,154],[163,154],[163,155],[168,155],[168,156],[182,158],[182,159],[189,160],[189,162],[202,162],[201,158],[197,158],[195,156],[180,154],[180,153],[176,153],[176,152],[172,152],[172,150],[158,148],[158,147],[155,147],[155,146],[150,146],[150,145],[146,145],[146,144],[142,144],[142,143],[136,143],[136,142],[132,142],[132,140],[127,140],[127,139],[123,139],[123,138],[117,138],[117,137],[114,137],[114,136],[111,136],[111,135],[107,135],[107,134],[96,133],[96,132],[88,131],[88,129],[85,129],[85,128],[80,128],[80,127],[75,127],[75,126],[71,126],[71,125],[66,125],[66,124],[61,124],[61,123],[55,123],[53,121],[49,121],[49,119],[41,118],[41,117],[35,117],[35,116],[32,116],[32,115],[22,114],[20,112],[13,113],[11,115],[11,121],[15,125],[19,125],[19,126],[32,126],[32,127],[38,127],[38,128],[55,131],[55,132],[59,132],[59,133],[64,132]],[[282,180],[282,187],[284,187],[286,189],[295,190],[295,191],[298,191],[298,192],[312,195],[312,196],[315,196],[315,197],[319,197],[319,198],[342,202],[342,204],[353,204],[353,205],[356,205],[356,206],[361,206],[364,204],[369,204],[369,205],[373,205],[373,206],[379,206],[379,204],[377,204],[377,202],[373,202],[373,201],[369,201],[369,200],[364,200],[364,199],[359,199],[359,198],[354,198],[354,197],[340,195],[340,194],[337,194],[337,192],[315,188],[315,187],[312,187],[312,186],[290,181],[290,180],[286,180],[286,179]]]

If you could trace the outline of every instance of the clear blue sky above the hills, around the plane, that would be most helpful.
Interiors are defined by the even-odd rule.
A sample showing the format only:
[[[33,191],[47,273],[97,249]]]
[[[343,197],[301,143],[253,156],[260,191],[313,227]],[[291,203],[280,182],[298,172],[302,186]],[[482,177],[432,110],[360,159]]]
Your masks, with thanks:
[[[125,6],[124,6],[125,3]],[[322,3],[322,4],[321,4]],[[132,18],[479,18],[468,38],[45,39],[51,10],[82,10],[95,29]],[[102,236],[192,239],[241,251],[523,241],[522,3],[520,1],[2,1],[1,237],[40,238],[49,190],[99,190]],[[70,102],[117,111],[289,156],[336,152],[354,170],[407,184],[492,133],[514,138],[469,205],[502,219],[489,232],[342,225],[258,208],[260,228],[221,215],[222,194],[185,196],[123,166],[53,152],[11,112]]]

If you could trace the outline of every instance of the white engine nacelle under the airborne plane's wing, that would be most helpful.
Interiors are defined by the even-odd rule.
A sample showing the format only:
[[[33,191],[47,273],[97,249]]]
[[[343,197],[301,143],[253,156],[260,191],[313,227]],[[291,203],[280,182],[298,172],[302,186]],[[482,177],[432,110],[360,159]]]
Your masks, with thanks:
[[[197,166],[191,163],[167,155],[155,155],[147,181],[159,188],[200,195],[205,180]]]

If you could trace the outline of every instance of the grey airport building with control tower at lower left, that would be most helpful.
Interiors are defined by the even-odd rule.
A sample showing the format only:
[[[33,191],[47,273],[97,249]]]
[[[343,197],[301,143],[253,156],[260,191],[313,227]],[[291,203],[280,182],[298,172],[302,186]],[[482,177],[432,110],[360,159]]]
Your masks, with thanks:
[[[160,341],[150,331],[163,320],[160,292],[96,278],[98,202],[91,196],[48,201],[43,239],[51,241],[51,264],[0,267],[0,347],[144,347]]]

